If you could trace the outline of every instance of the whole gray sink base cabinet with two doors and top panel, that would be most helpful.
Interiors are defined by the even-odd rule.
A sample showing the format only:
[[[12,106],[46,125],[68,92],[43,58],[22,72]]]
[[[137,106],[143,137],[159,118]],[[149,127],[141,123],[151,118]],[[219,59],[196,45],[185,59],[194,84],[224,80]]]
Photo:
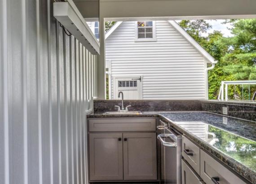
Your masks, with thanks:
[[[157,180],[155,118],[90,118],[89,180]]]

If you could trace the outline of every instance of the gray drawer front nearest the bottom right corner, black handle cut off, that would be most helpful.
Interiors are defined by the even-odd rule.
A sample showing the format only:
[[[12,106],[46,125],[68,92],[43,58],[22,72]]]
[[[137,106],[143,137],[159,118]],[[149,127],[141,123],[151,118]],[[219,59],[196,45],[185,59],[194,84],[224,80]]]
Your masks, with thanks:
[[[246,184],[243,180],[238,178],[238,176],[234,175],[231,171],[225,168],[225,166],[222,166],[221,163],[202,150],[200,159],[200,176],[206,184]],[[213,182],[212,180],[214,180],[215,177],[217,181]]]

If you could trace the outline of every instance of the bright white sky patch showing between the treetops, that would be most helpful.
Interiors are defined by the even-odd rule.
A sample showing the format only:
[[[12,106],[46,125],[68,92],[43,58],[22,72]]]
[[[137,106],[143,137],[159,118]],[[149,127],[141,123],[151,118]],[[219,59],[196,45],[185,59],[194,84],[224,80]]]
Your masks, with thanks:
[[[205,20],[206,22],[210,23],[212,25],[212,29],[209,29],[207,31],[207,33],[203,33],[203,36],[207,36],[209,33],[212,33],[214,30],[216,31],[221,31],[221,33],[225,36],[225,37],[230,37],[232,36],[230,30],[228,28],[231,28],[232,26],[229,23],[226,24],[221,24],[222,22],[224,22],[224,19],[221,20]],[[177,21],[180,22],[180,21]],[[227,28],[228,27],[228,28]]]

